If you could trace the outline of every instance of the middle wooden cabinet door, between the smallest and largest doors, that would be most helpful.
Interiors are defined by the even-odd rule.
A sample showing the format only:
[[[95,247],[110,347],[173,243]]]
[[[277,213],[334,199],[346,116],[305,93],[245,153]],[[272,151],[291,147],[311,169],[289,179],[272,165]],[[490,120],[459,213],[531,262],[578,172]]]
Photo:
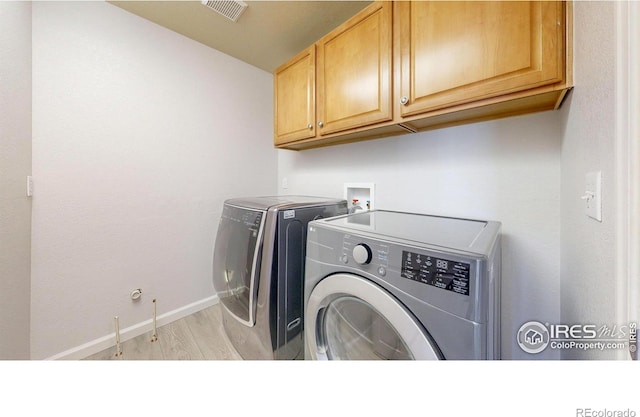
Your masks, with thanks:
[[[391,2],[376,2],[318,42],[318,133],[392,118]]]

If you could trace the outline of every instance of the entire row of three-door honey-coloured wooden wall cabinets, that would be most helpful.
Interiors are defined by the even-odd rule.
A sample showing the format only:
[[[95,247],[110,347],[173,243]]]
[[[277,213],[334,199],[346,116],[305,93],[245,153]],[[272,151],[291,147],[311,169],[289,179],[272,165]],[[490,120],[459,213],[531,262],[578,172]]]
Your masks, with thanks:
[[[274,73],[275,146],[305,149],[556,109],[571,3],[375,2]]]

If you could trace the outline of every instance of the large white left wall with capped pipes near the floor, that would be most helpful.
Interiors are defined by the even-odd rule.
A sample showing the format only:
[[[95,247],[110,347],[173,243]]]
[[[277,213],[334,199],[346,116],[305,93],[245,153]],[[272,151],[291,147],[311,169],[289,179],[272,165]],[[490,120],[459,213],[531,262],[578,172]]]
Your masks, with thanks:
[[[272,119],[264,71],[108,3],[34,3],[31,357],[211,302],[223,200],[276,192]]]

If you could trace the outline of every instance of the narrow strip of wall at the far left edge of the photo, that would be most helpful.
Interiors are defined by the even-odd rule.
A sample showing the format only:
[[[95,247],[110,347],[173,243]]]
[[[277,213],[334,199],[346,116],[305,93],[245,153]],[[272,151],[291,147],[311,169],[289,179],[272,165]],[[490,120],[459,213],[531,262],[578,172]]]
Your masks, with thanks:
[[[31,3],[0,2],[0,28],[0,359],[28,359]]]

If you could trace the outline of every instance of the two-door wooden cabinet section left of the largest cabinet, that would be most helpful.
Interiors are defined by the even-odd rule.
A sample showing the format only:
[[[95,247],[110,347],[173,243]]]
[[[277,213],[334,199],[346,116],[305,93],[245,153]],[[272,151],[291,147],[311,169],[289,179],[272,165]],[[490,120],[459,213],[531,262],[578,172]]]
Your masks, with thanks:
[[[374,2],[274,72],[276,147],[407,132],[393,123],[392,11]]]

